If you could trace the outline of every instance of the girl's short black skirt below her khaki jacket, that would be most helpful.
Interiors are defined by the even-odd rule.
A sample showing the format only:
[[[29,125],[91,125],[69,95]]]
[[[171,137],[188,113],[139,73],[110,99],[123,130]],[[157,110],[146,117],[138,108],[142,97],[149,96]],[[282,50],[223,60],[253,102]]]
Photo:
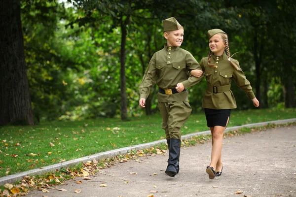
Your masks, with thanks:
[[[222,126],[226,127],[231,109],[208,109],[205,108],[205,114],[208,127]]]

